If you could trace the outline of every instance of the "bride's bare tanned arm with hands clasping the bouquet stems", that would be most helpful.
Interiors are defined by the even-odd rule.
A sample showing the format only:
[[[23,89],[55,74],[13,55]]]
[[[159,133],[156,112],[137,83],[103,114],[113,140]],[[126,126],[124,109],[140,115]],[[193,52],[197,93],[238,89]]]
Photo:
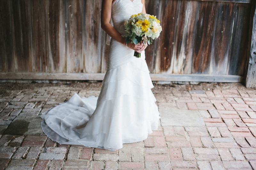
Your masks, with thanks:
[[[111,8],[112,8],[112,1],[113,0],[102,0],[101,6],[101,28],[112,38],[116,41],[121,42],[125,45],[125,38],[113,27],[111,26],[110,18],[111,18]],[[132,48],[134,51],[140,53],[141,48],[144,46],[140,43],[138,44],[131,44],[128,43],[127,47]]]

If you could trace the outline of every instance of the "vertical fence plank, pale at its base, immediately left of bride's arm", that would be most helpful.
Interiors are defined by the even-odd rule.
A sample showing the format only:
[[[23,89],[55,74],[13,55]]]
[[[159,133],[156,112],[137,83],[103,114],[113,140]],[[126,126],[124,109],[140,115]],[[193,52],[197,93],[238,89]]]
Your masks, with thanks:
[[[84,16],[84,69],[86,73],[98,73],[101,71],[101,38],[100,26],[101,1],[85,1]]]

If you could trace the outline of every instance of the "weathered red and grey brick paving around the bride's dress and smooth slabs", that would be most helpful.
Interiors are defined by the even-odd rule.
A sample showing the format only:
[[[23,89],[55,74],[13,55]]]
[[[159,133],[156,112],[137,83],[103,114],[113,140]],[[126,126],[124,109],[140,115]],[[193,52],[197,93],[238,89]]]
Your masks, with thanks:
[[[61,87],[0,96],[0,170],[256,170],[256,93],[197,90],[156,93],[158,106],[198,110],[205,126],[159,126],[118,151],[62,145],[46,136],[4,133],[19,116],[39,116],[77,92]],[[20,125],[22,126],[22,125]]]

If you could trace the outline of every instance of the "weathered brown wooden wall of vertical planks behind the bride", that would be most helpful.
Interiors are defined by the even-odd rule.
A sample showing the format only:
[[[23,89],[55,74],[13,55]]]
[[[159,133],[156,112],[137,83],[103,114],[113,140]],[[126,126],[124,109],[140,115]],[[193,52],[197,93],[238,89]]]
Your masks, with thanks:
[[[250,0],[145,1],[163,27],[146,49],[151,73],[244,76]],[[101,0],[0,0],[0,72],[106,72],[100,9]]]

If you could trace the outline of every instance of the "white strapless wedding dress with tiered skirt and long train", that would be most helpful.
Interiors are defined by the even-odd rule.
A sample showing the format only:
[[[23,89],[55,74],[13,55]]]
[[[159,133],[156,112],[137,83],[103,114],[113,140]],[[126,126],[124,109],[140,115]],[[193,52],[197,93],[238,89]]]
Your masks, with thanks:
[[[116,30],[125,33],[124,21],[141,11],[140,0],[114,1],[111,17]],[[60,144],[112,151],[124,143],[145,140],[157,129],[160,117],[145,52],[141,58],[133,54],[132,49],[111,39],[108,70],[99,97],[80,98],[75,93],[68,101],[44,112],[44,133]]]

